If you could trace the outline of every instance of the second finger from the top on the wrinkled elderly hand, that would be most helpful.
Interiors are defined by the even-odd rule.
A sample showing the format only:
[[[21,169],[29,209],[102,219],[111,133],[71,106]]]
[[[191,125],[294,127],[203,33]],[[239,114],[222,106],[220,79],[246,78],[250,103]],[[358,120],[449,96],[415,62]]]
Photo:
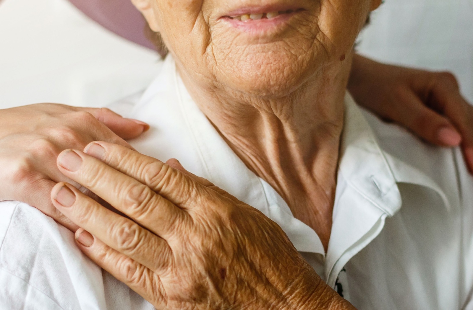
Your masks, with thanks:
[[[123,149],[133,152],[126,147]],[[164,239],[173,235],[175,226],[189,224],[188,215],[182,209],[147,185],[83,152],[63,151],[58,156],[58,168],[71,180],[90,189],[117,210]]]

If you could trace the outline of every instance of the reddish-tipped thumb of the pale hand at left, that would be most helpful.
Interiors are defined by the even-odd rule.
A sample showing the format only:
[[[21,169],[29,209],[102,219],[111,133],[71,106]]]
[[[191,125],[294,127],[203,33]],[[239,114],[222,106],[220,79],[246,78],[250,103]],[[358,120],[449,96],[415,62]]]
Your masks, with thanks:
[[[136,138],[149,129],[147,123],[123,118],[121,115],[107,108],[86,109],[86,111],[94,115],[97,120],[104,123],[105,126],[124,140]]]

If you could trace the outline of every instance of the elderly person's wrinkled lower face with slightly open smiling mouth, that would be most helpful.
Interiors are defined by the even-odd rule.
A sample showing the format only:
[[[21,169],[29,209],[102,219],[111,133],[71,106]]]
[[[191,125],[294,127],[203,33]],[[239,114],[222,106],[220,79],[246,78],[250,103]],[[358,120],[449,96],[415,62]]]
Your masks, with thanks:
[[[320,69],[342,63],[381,2],[133,1],[191,78],[262,97],[287,95]]]

